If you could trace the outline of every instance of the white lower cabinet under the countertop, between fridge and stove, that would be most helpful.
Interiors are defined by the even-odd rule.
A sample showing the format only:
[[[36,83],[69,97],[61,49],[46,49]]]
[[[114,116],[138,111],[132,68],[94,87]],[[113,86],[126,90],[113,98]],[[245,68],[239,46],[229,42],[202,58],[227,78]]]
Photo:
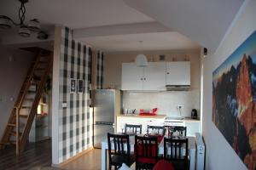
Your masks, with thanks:
[[[122,133],[122,129],[125,131],[125,123],[134,125],[143,125],[143,133],[147,133],[148,125],[163,126],[164,117],[162,118],[148,118],[139,116],[117,116],[117,133]]]

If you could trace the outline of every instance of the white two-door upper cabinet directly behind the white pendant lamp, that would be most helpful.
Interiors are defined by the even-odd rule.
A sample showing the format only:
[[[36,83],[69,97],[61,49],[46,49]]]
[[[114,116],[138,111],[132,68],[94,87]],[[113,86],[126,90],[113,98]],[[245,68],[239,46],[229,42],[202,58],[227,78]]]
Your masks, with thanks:
[[[149,62],[147,67],[123,63],[122,90],[166,90],[166,62]]]

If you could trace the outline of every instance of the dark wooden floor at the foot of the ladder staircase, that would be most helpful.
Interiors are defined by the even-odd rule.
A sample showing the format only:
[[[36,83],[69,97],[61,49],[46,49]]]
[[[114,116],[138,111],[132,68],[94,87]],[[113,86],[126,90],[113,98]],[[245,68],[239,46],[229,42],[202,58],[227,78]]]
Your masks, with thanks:
[[[15,155],[15,148],[0,150],[0,169],[27,170],[41,169],[51,165],[51,141],[44,140],[38,143],[27,144],[26,150]]]

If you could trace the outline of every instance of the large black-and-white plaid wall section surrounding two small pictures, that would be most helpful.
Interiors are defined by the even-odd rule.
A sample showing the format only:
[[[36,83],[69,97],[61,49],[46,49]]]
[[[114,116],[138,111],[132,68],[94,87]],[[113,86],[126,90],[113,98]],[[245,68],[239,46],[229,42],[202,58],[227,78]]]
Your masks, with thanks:
[[[61,31],[59,162],[88,149],[90,137],[91,49],[72,39],[72,31]],[[70,93],[70,79],[83,80],[83,93]],[[67,107],[62,107],[67,103]]]

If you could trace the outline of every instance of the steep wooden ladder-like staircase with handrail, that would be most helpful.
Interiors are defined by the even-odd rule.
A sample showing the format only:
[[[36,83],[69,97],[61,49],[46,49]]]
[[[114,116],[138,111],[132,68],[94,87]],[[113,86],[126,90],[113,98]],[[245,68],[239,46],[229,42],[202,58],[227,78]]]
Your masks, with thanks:
[[[52,69],[52,53],[41,49],[37,54],[36,60],[32,61],[27,71],[0,142],[0,149],[15,144],[16,155],[25,148],[44,85]]]

